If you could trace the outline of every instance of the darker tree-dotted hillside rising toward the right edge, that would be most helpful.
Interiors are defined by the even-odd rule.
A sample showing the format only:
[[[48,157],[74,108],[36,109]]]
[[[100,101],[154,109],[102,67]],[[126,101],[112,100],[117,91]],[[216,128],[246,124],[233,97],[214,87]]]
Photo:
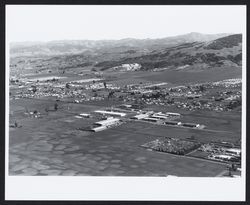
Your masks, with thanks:
[[[124,63],[139,63],[143,70],[240,67],[242,63],[242,35],[230,35],[209,42],[185,43],[134,58],[104,61],[96,66],[101,70]]]

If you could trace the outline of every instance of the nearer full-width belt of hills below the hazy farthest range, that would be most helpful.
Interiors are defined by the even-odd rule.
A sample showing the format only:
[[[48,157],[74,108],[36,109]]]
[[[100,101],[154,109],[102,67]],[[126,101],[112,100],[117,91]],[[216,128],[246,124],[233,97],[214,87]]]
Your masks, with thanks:
[[[191,36],[194,35],[196,34],[191,34]],[[72,46],[73,49],[76,47]],[[32,49],[36,52],[37,47]],[[51,49],[53,50],[53,47]],[[139,69],[130,69],[130,71],[240,68],[242,64],[242,35],[233,34],[210,41],[184,41],[183,43],[175,42],[167,45],[159,43],[128,46],[123,43],[106,47],[90,47],[82,49],[80,53],[59,52],[60,54],[58,54],[57,51],[53,52],[53,55],[41,55],[40,53],[39,55],[15,56],[11,53],[10,64],[12,68],[22,69],[28,63],[30,67],[37,69],[37,72],[48,69],[74,68],[92,69],[93,71],[119,71],[120,68],[124,70],[123,64],[128,64],[125,67],[137,64],[137,67],[140,67]]]

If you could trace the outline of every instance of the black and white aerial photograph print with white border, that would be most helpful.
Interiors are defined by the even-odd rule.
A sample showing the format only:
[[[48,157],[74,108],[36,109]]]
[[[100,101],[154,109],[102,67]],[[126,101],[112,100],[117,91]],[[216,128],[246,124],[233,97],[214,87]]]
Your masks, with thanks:
[[[244,190],[245,49],[246,6],[6,6],[7,184]]]

